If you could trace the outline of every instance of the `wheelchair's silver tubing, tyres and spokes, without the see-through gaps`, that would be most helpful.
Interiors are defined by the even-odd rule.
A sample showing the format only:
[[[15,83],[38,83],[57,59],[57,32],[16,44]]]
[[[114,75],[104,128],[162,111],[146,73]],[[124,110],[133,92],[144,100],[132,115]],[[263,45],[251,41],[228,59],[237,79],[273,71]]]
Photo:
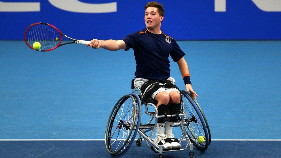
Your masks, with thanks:
[[[184,95],[184,93],[186,94],[186,95]],[[187,97],[187,95],[188,95],[188,97],[190,97],[190,98],[188,98]],[[121,107],[121,103],[123,104],[123,103],[125,103],[125,101],[127,100],[126,98],[134,98],[134,99],[132,99],[133,101],[133,104],[135,104],[135,106],[132,106],[132,108],[133,108],[133,110],[132,110],[132,112],[131,113],[134,113],[135,114],[135,116],[134,115],[132,115],[132,117],[134,117],[134,118],[137,118],[138,120],[137,120],[137,124],[135,124],[135,121],[136,121],[136,119],[134,119],[134,120],[132,120],[134,123],[134,127],[132,128],[132,125],[130,124],[130,123],[128,123],[128,122],[131,122],[131,121],[123,121],[122,119],[121,119],[121,117],[120,117],[120,121],[119,120],[116,120],[115,119],[115,116],[116,116],[116,113],[118,112],[118,110],[119,110],[119,108]],[[125,95],[125,96],[123,96],[123,97],[121,97],[120,99],[119,99],[119,101],[115,104],[115,107],[113,108],[113,110],[112,110],[112,112],[111,112],[111,116],[109,117],[109,120],[108,120],[108,122],[107,122],[107,127],[106,127],[106,132],[105,132],[105,145],[106,145],[106,148],[107,148],[107,151],[111,154],[111,156],[113,156],[113,157],[121,157],[122,155],[124,155],[125,153],[126,153],[126,151],[128,151],[128,149],[130,148],[130,146],[132,145],[132,142],[134,141],[134,138],[136,137],[136,134],[138,133],[139,134],[139,137],[138,137],[138,139],[137,139],[137,141],[136,141],[136,145],[137,146],[140,146],[141,145],[141,141],[142,141],[142,137],[144,138],[144,140],[145,140],[145,143],[146,143],[146,145],[151,149],[151,150],[153,150],[155,153],[159,153],[159,157],[163,157],[163,153],[165,153],[165,152],[172,152],[172,151],[182,151],[182,150],[185,150],[185,149],[187,149],[188,147],[189,147],[189,157],[190,158],[193,158],[193,156],[194,156],[194,153],[193,153],[193,142],[195,143],[194,144],[194,146],[195,147],[197,147],[199,150],[201,150],[201,151],[204,151],[204,150],[206,150],[207,148],[208,148],[208,146],[210,145],[210,142],[211,142],[211,135],[210,135],[210,129],[209,129],[209,126],[208,126],[208,122],[207,122],[207,120],[206,120],[206,117],[205,117],[205,115],[204,115],[204,113],[202,112],[202,109],[200,108],[200,106],[199,106],[199,104],[192,98],[192,96],[189,94],[189,93],[187,93],[187,92],[185,92],[185,91],[181,91],[181,104],[182,104],[182,111],[181,111],[181,113],[178,115],[178,117],[180,117],[181,118],[181,121],[180,122],[176,122],[175,124],[174,124],[174,127],[180,127],[181,128],[181,130],[182,130],[182,132],[183,132],[183,134],[182,134],[182,136],[181,136],[181,139],[179,140],[179,143],[181,144],[181,142],[183,141],[183,138],[185,137],[185,140],[187,141],[187,144],[186,144],[186,146],[184,147],[184,148],[181,148],[181,149],[172,149],[172,150],[163,150],[163,146],[162,145],[158,145],[158,144],[156,144],[151,138],[152,138],[152,136],[153,136],[153,134],[154,134],[154,132],[155,132],[155,130],[156,130],[156,127],[157,127],[157,119],[158,118],[160,118],[160,117],[174,117],[174,116],[177,116],[177,115],[158,115],[158,111],[157,111],[157,107],[156,107],[156,105],[154,104],[154,103],[151,103],[151,102],[143,102],[142,101],[142,93],[141,93],[141,91],[140,91],[140,89],[139,88],[134,88],[133,90],[132,90],[132,93],[131,94],[129,94],[129,95]],[[185,113],[185,102],[184,102],[184,100],[182,99],[183,97],[185,97],[185,98],[187,98],[188,100],[189,100],[189,102],[191,103],[191,101],[193,101],[193,102],[195,102],[195,104],[196,104],[196,106],[198,107],[198,108],[196,108],[195,107],[195,105],[194,104],[192,104],[192,106],[193,106],[193,108],[194,108],[194,110],[196,111],[196,113],[198,114],[197,116],[199,117],[199,118],[197,118],[196,119],[196,117],[194,116],[194,114],[193,114],[193,117],[195,117],[195,119],[194,118],[192,118],[191,119],[191,117],[189,117],[190,119],[186,119],[187,118],[187,115],[188,115],[188,113]],[[125,101],[124,101],[125,100]],[[147,115],[149,115],[149,116],[151,116],[151,118],[149,119],[149,121],[148,121],[148,123],[147,124],[142,124],[141,123],[141,121],[140,121],[140,119],[141,119],[141,111],[142,111],[142,105],[145,105],[145,114],[147,114]],[[136,105],[138,106],[138,107],[136,107]],[[153,108],[155,109],[155,112],[149,112],[149,109],[148,109],[148,107],[147,107],[147,105],[150,105],[150,106],[153,106]],[[123,107],[124,108],[124,107]],[[128,106],[128,109],[129,109],[129,106]],[[190,113],[190,112],[189,112]],[[192,112],[193,113],[193,112]],[[200,114],[199,114],[200,113]],[[115,116],[113,116],[113,115],[115,115]],[[191,115],[191,114],[190,114]],[[114,117],[114,118],[113,118]],[[124,117],[125,117],[125,114],[124,114]],[[152,120],[153,120],[153,118],[155,118],[155,123],[154,124],[151,124],[151,122],[152,122]],[[203,118],[204,118],[204,120],[203,120]],[[189,127],[189,124],[192,122],[192,121],[198,121],[198,120],[201,120],[201,127],[203,128],[203,130],[204,130],[204,136],[205,136],[205,140],[206,140],[206,142],[205,142],[205,144],[204,144],[204,142],[203,142],[203,144],[204,144],[204,146],[201,144],[201,143],[199,143],[198,142],[198,140],[195,140],[195,138],[196,138],[196,136],[197,136],[197,134],[195,133],[195,134],[193,134],[193,132],[191,132],[191,131],[194,131],[194,132],[196,132],[195,130],[192,130],[192,129],[190,129],[190,127]],[[112,134],[112,132],[111,132],[111,130],[112,130],[112,127],[110,127],[109,126],[109,124],[111,125],[111,126],[113,126],[113,122],[114,122],[114,120],[116,120],[117,121],[117,123],[118,123],[118,126],[116,127],[116,129],[117,128],[119,128],[119,129],[123,129],[124,127],[126,127],[126,130],[128,131],[128,130],[130,130],[130,135],[129,135],[129,132],[128,132],[128,134],[126,134],[126,135],[128,135],[128,137],[127,137],[127,139],[126,139],[126,141],[125,140],[121,140],[121,141],[123,141],[123,145],[121,146],[121,149],[119,149],[119,150],[117,150],[117,148],[118,148],[118,146],[117,146],[117,148],[116,148],[116,150],[115,150],[115,152],[113,152],[113,150],[111,149],[111,146],[112,146],[112,144],[111,144],[111,134]],[[113,121],[113,122],[112,122]],[[119,122],[118,122],[119,121]],[[126,122],[127,124],[124,124],[124,122]],[[128,127],[128,126],[130,126],[130,127]],[[198,125],[197,125],[198,126]],[[114,126],[113,126],[114,127]],[[190,132],[190,134],[188,134],[187,133],[187,129],[185,128],[185,127],[187,127],[187,129],[189,130],[189,132]],[[115,129],[115,131],[116,131],[116,129]],[[115,131],[114,131],[114,133],[115,133]],[[123,130],[122,130],[123,131]],[[134,134],[132,135],[132,137],[130,137],[131,136],[131,134],[132,134],[132,131],[134,131]],[[149,131],[151,131],[151,133],[149,134],[149,136],[147,135],[147,134],[145,134],[145,133],[147,133],[147,132],[149,132]],[[124,131],[123,131],[124,132]],[[136,133],[137,132],[137,133]],[[114,134],[113,133],[113,134]],[[118,135],[119,135],[119,133],[118,133]],[[191,135],[191,136],[190,136]],[[123,137],[124,137],[124,135],[123,135]],[[129,138],[131,138],[130,140],[129,140]],[[117,137],[116,138],[116,140],[115,141],[117,141],[119,139],[119,137]],[[114,142],[115,142],[114,141]],[[121,141],[120,141],[120,143],[121,143]],[[119,143],[119,144],[120,144]],[[151,145],[150,145],[150,144]],[[198,144],[199,143],[199,144]],[[119,145],[118,144],[118,145]],[[127,146],[126,146],[127,145]],[[201,145],[202,145],[202,147],[201,147]],[[124,150],[123,150],[123,148],[124,148]],[[123,150],[123,151],[122,151]],[[121,152],[121,153],[120,153]]]

